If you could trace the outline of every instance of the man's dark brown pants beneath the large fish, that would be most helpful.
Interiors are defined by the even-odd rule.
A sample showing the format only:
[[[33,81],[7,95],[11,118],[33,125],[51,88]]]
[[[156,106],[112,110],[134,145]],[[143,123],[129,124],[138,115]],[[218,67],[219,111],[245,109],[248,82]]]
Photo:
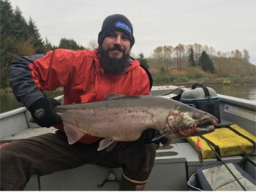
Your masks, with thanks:
[[[147,180],[154,166],[155,144],[118,142],[110,152],[91,145],[69,145],[59,134],[42,134],[4,145],[0,150],[1,190],[23,190],[31,175],[51,174],[83,164],[122,167],[132,180]]]

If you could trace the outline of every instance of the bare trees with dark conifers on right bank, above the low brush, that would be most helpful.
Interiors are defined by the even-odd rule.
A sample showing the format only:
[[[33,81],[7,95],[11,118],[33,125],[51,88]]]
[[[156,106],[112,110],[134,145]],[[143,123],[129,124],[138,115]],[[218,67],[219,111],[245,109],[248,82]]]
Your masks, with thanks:
[[[216,77],[256,75],[256,66],[249,63],[249,52],[246,49],[222,53],[213,47],[198,43],[156,47],[148,57],[148,66],[165,71],[197,67],[204,72],[214,73]]]

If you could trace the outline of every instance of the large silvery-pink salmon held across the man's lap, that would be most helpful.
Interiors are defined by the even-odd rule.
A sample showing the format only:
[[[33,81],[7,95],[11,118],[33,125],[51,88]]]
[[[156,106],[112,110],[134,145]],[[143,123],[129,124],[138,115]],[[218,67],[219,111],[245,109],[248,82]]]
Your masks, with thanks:
[[[114,141],[138,140],[148,128],[166,136],[170,145],[173,138],[210,133],[218,122],[207,112],[159,96],[112,94],[106,101],[60,105],[55,110],[63,120],[70,145],[89,134],[105,138],[98,150]]]

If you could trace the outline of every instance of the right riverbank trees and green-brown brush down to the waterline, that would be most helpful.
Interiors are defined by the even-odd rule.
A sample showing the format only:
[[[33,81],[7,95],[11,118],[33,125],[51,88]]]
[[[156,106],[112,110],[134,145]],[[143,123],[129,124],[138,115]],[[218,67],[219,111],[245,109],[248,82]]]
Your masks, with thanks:
[[[217,78],[232,80],[256,75],[256,66],[249,63],[247,50],[221,53],[197,43],[159,46],[146,61],[157,84]]]

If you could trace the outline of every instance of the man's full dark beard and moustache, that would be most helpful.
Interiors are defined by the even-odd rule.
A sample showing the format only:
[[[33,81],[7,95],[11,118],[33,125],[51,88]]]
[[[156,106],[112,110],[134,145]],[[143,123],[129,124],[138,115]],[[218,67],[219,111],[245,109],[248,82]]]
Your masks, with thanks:
[[[111,58],[108,55],[108,52],[110,50],[118,50],[123,53],[123,56],[121,58]],[[125,54],[124,49],[122,49],[119,46],[114,46],[113,48],[108,48],[107,50],[104,50],[102,45],[99,45],[99,54],[101,56],[101,59],[99,63],[101,66],[105,69],[105,72],[109,74],[121,74],[125,71],[125,68],[129,66],[129,53]]]

